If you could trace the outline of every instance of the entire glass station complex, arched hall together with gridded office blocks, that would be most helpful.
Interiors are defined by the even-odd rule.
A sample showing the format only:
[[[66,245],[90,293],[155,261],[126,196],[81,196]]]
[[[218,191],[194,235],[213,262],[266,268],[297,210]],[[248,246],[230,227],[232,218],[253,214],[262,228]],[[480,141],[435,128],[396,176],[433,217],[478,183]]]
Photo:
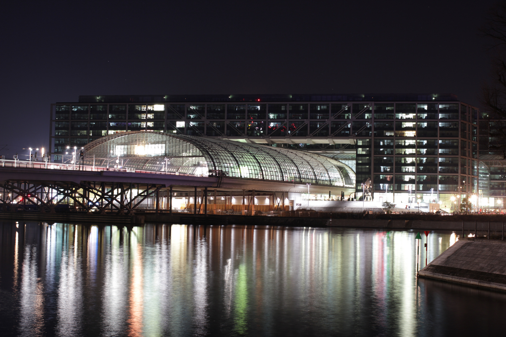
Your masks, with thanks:
[[[480,134],[479,121],[476,107],[448,93],[98,95],[52,104],[49,137],[55,162],[71,160],[69,151],[82,147],[87,160],[95,155],[100,165],[222,171],[241,179],[328,186],[344,179],[347,196],[356,200],[362,197],[362,182],[370,179],[376,202],[424,211],[438,204],[451,212],[466,196],[477,205],[486,200],[489,207],[503,202],[504,196],[495,194],[504,194],[504,188],[490,188],[490,182],[484,188],[480,181],[479,166],[487,166],[479,159],[485,154],[480,137],[488,135]],[[168,141],[165,150],[180,149],[176,153],[193,159],[185,162],[187,157],[161,151],[156,148],[161,140],[139,143],[146,134]],[[240,155],[234,157],[235,151]],[[146,158],[136,157],[141,154]],[[323,169],[327,160],[337,171]],[[314,161],[320,171],[307,164]],[[328,199],[328,191],[307,198]]]

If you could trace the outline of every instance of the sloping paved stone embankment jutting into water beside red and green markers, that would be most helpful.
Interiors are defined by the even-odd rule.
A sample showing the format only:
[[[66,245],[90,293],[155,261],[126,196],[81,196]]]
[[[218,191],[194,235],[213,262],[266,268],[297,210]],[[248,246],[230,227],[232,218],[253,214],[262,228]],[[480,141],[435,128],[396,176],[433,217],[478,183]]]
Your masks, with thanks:
[[[463,238],[418,272],[420,277],[506,292],[506,243]]]

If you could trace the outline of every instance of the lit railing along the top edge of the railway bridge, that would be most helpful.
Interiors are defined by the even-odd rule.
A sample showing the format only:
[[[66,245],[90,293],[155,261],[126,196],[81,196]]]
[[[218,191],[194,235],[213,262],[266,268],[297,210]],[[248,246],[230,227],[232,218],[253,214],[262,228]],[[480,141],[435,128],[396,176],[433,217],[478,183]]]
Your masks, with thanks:
[[[150,174],[171,174],[171,175],[187,175],[200,177],[202,175],[191,174],[191,173],[179,173],[179,172],[165,172],[165,171],[149,171],[149,170],[136,170],[134,168],[124,167],[100,167],[100,166],[89,166],[89,165],[73,165],[73,164],[59,164],[59,163],[40,163],[40,162],[27,162],[20,160],[1,160],[1,167],[13,167],[13,168],[35,168],[35,169],[48,169],[48,170],[65,170],[65,171],[113,171],[113,172],[134,172],[134,173],[150,173]]]

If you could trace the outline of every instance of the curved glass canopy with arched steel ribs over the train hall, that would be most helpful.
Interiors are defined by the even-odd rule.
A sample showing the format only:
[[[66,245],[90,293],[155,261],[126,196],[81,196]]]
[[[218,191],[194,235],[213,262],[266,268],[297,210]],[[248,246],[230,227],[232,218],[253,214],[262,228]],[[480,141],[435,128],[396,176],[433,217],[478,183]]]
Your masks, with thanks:
[[[105,136],[85,146],[85,161],[96,165],[207,176],[293,181],[354,187],[350,167],[317,154],[219,138],[130,131]]]

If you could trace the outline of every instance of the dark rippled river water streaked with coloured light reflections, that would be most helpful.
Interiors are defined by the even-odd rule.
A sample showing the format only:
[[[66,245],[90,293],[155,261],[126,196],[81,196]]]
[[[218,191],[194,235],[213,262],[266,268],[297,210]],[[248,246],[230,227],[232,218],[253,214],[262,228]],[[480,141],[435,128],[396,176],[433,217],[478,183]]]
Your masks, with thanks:
[[[3,223],[0,335],[506,334],[506,295],[416,280],[415,235]],[[429,261],[456,239],[431,232]]]

